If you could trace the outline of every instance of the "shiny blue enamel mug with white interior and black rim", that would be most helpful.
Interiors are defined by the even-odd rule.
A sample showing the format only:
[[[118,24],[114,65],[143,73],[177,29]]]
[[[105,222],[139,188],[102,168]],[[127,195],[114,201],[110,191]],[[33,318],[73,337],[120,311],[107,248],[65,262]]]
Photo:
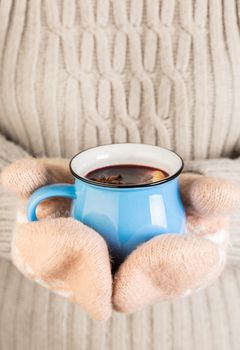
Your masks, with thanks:
[[[85,177],[92,170],[120,164],[150,166],[165,170],[169,176],[139,185],[107,184]],[[90,148],[70,162],[74,184],[48,185],[32,194],[28,219],[37,220],[36,207],[45,199],[71,198],[71,216],[100,233],[110,254],[122,260],[154,236],[184,232],[185,212],[178,185],[182,169],[179,155],[157,146],[121,143]]]

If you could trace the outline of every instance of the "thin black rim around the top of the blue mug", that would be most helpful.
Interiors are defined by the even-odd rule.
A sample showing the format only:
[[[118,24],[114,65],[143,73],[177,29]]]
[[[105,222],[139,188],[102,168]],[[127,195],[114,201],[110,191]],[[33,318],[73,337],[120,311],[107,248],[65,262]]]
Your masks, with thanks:
[[[125,185],[119,185],[119,184],[109,184],[109,183],[104,183],[104,182],[97,182],[97,181],[93,181],[93,180],[90,180],[86,177],[83,177],[83,176],[80,176],[78,175],[73,169],[72,169],[72,161],[77,157],[79,156],[79,154],[81,153],[84,153],[85,151],[88,151],[88,150],[91,150],[91,149],[95,149],[95,148],[98,148],[98,147],[101,147],[101,146],[111,146],[111,145],[123,145],[123,144],[133,144],[133,145],[148,145],[148,146],[154,146],[154,147],[159,147],[159,148],[163,148],[165,149],[166,151],[168,152],[171,152],[173,154],[175,154],[181,161],[181,166],[180,168],[172,175],[170,176],[167,176],[166,178],[162,179],[162,180],[158,180],[158,181],[155,181],[155,182],[149,182],[149,183],[146,183],[146,184],[125,184]],[[83,182],[86,182],[90,185],[93,185],[93,186],[98,186],[98,187],[105,187],[105,188],[143,188],[143,187],[152,187],[152,186],[157,186],[157,185],[160,185],[160,184],[163,184],[163,183],[166,183],[166,182],[169,182],[173,179],[175,179],[176,177],[178,177],[178,175],[181,174],[182,170],[183,170],[183,167],[184,167],[184,161],[182,159],[182,157],[175,151],[172,151],[166,147],[160,147],[160,146],[155,146],[155,145],[149,145],[149,144],[142,144],[142,143],[138,143],[138,142],[122,142],[122,143],[114,143],[114,144],[105,144],[105,145],[100,145],[100,146],[95,146],[95,147],[88,147],[80,152],[78,152],[77,154],[75,154],[70,162],[69,162],[69,169],[70,169],[70,172],[72,173],[72,175],[77,178],[78,180],[81,180]]]

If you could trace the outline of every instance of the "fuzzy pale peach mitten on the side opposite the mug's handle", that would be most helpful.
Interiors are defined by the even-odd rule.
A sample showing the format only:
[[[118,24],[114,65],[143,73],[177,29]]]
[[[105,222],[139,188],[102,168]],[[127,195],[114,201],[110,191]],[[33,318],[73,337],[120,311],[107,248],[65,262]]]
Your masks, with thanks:
[[[139,246],[114,278],[113,305],[130,313],[190,294],[218,277],[225,265],[228,215],[240,206],[240,188],[201,175],[180,176],[187,214],[185,235],[164,234]]]

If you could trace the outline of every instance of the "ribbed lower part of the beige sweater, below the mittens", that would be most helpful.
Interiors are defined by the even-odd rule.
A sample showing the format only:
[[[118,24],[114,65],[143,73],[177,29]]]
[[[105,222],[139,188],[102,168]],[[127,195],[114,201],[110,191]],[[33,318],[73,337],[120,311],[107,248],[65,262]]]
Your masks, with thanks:
[[[229,269],[191,297],[94,322],[0,260],[0,349],[239,350],[239,285]]]

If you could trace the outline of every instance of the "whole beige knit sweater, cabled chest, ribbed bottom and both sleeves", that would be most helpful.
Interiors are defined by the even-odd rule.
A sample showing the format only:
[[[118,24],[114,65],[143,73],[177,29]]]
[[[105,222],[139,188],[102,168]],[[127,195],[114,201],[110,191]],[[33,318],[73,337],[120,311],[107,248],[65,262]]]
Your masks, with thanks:
[[[70,157],[128,141],[239,181],[239,22],[239,0],[0,0],[0,132],[22,147],[0,138],[0,167],[23,149]],[[0,189],[5,257],[14,207]],[[239,228],[238,214],[235,263]],[[239,349],[239,281],[230,271],[194,297],[98,324],[1,260],[0,349]]]

